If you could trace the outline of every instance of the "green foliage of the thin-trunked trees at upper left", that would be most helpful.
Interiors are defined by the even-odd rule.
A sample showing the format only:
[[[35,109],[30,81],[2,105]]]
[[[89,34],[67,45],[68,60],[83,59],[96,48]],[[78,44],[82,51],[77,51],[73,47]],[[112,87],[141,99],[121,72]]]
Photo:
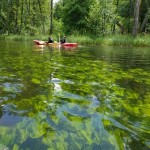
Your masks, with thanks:
[[[1,33],[35,35],[43,33],[41,28],[49,14],[48,1],[1,1]],[[40,7],[41,8],[40,8]],[[38,31],[38,32],[37,32]]]

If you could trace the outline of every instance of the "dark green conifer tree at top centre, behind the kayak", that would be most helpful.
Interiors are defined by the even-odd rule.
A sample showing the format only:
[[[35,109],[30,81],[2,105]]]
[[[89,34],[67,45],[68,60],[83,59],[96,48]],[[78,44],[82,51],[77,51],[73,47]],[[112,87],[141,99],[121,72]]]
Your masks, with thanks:
[[[87,29],[86,16],[89,13],[92,0],[64,0],[62,21],[67,33],[85,33]]]

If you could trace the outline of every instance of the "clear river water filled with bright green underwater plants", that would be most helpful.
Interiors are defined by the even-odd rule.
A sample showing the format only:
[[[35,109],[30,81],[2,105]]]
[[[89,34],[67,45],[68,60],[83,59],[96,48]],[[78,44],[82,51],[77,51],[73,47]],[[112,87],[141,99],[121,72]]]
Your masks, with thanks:
[[[0,44],[0,150],[150,149],[150,48]]]

